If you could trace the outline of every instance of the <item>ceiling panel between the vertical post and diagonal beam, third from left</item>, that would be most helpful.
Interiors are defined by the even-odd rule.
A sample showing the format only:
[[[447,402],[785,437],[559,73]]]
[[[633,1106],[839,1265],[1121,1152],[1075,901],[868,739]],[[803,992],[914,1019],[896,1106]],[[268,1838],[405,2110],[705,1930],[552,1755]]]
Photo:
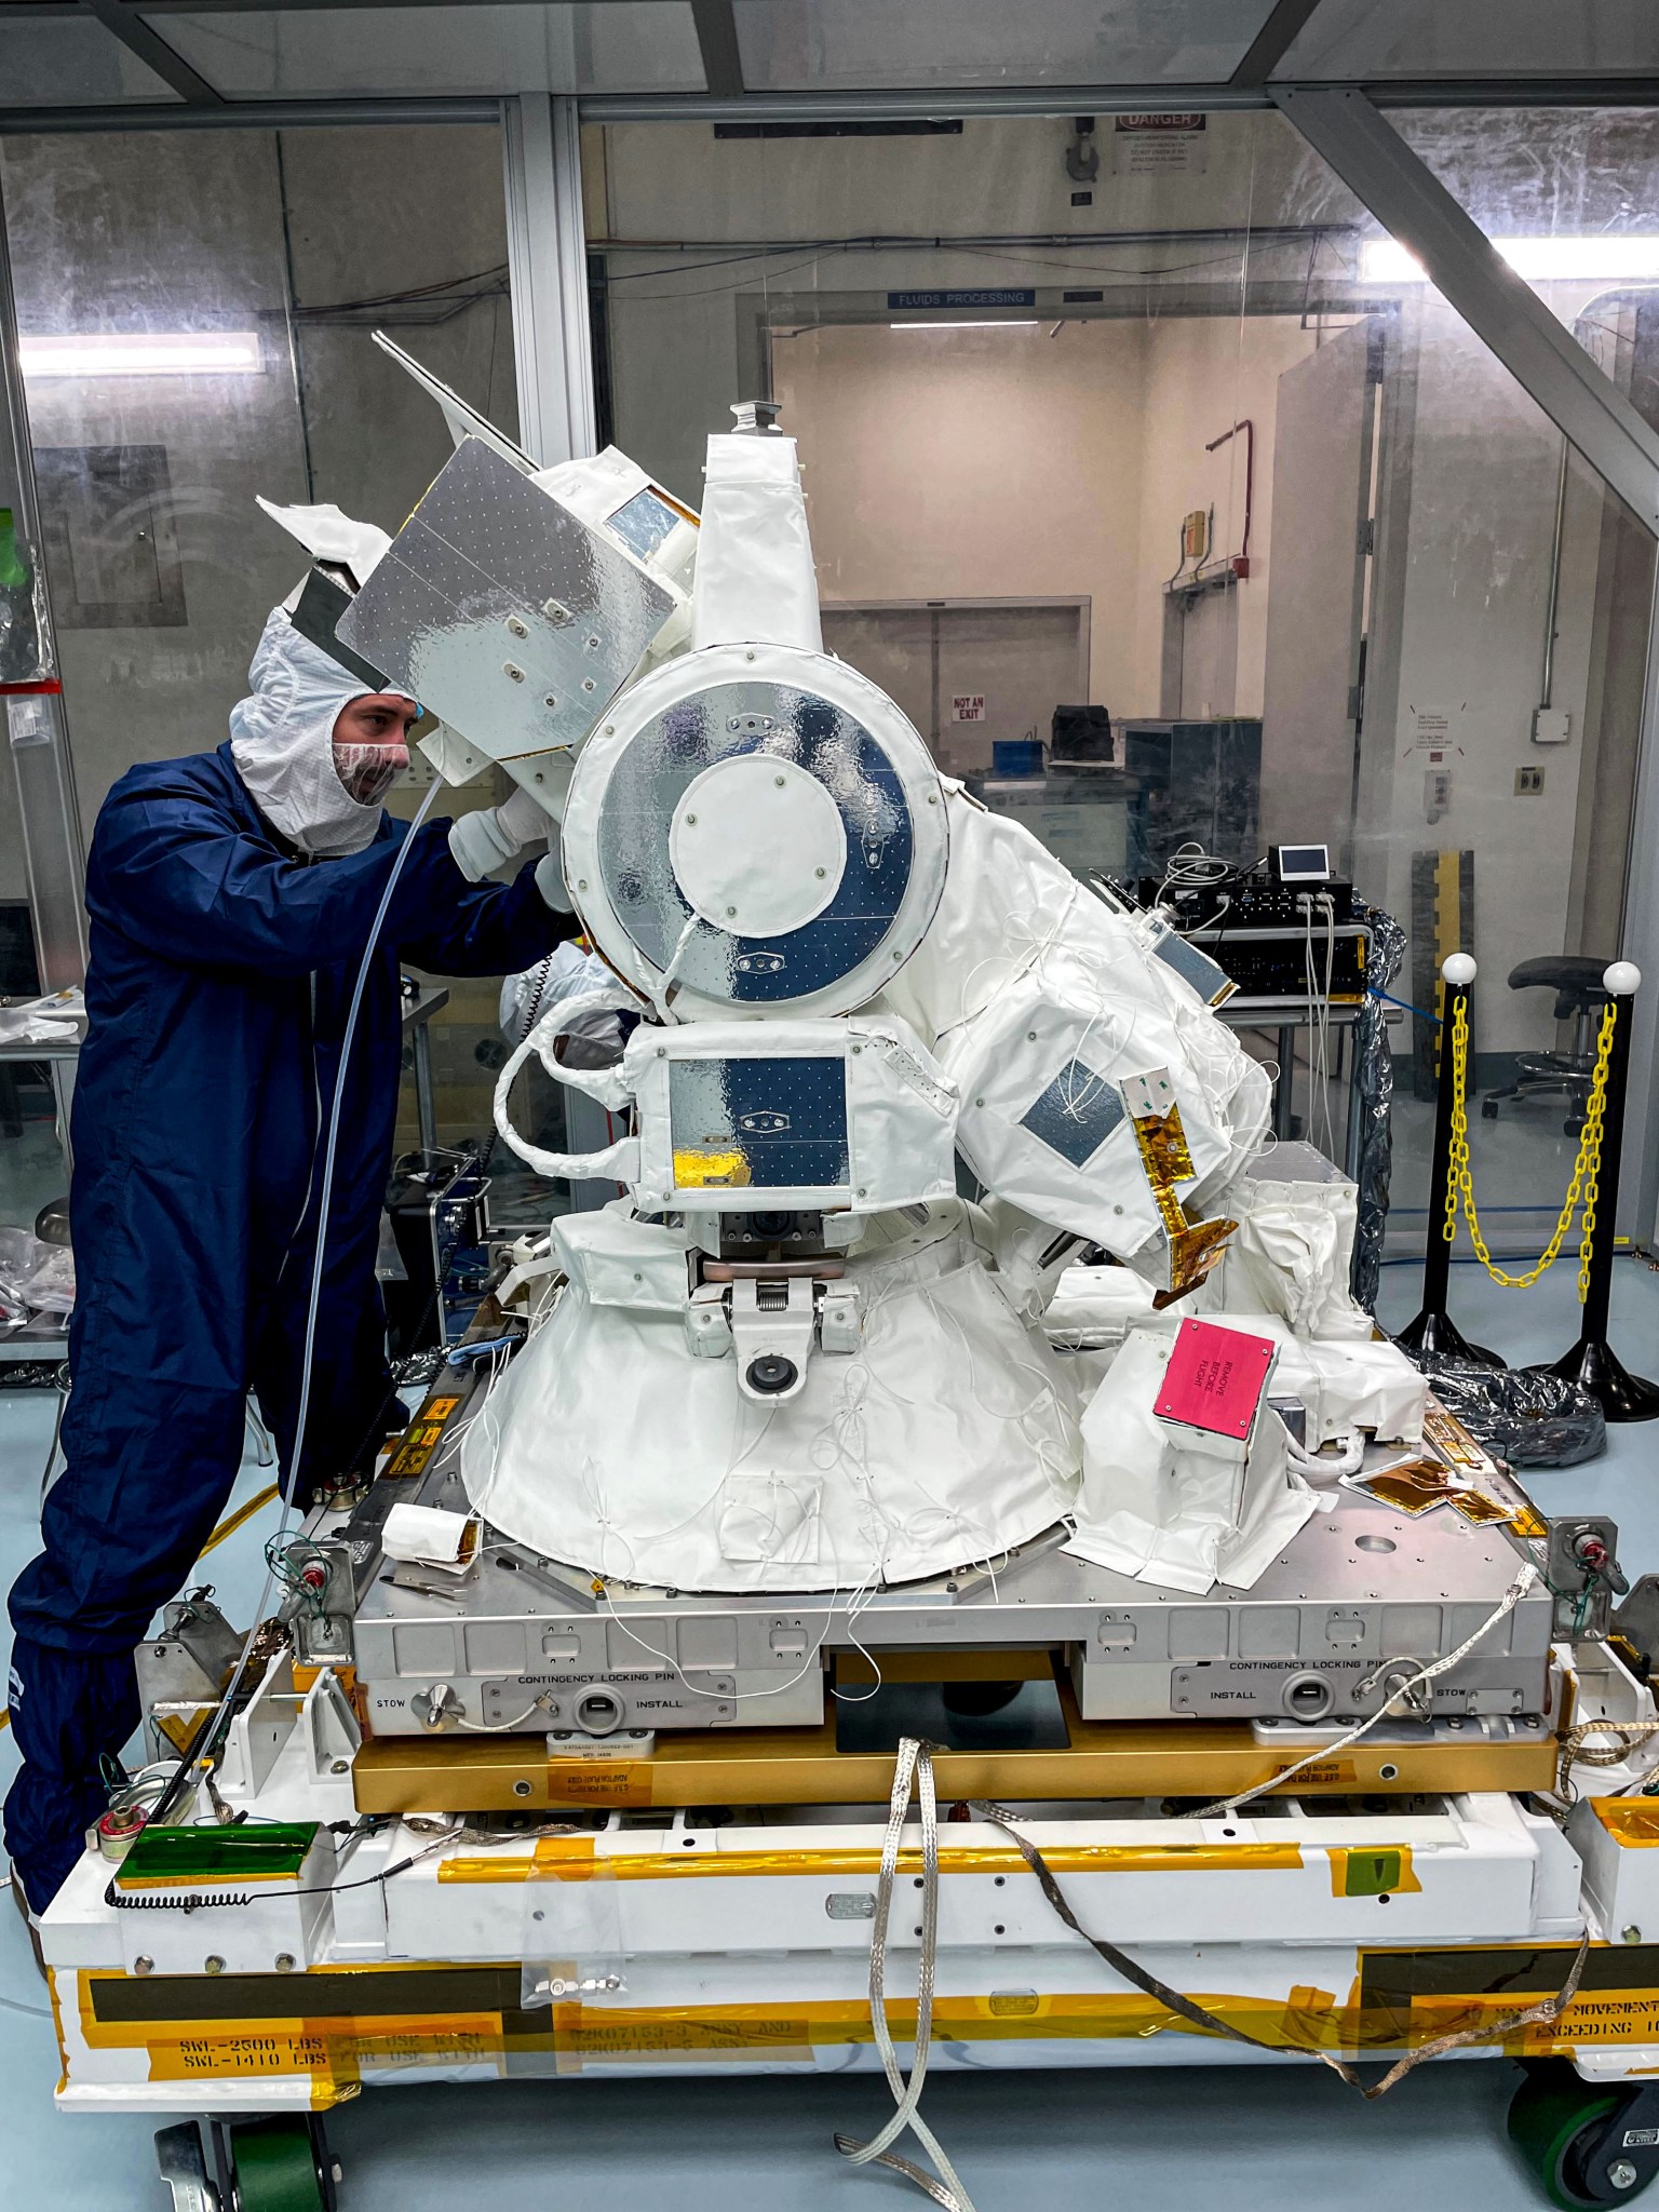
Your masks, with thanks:
[[[1219,84],[1270,0],[737,0],[750,91]]]

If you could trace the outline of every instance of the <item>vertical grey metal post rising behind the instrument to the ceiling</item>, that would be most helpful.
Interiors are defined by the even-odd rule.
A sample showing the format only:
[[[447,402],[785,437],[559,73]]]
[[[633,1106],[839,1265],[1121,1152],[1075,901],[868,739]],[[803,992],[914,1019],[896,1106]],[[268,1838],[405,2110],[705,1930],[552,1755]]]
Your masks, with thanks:
[[[593,334],[575,100],[502,102],[520,445],[546,469],[593,453]]]

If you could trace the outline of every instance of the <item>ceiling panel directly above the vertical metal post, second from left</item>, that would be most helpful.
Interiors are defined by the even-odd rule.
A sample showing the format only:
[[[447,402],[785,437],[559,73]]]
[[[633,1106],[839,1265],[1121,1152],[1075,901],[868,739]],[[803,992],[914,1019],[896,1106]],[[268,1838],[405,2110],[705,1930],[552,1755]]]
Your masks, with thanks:
[[[232,100],[703,88],[688,0],[168,11],[148,22]]]

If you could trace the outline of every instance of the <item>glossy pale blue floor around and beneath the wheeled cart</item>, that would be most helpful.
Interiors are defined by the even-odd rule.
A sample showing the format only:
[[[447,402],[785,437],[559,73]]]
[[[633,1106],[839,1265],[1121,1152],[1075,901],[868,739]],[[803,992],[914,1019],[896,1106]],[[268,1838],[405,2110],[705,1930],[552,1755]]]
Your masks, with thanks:
[[[1385,1270],[1383,1318],[1398,1327],[1413,1307],[1416,1267]],[[1467,1334],[1515,1363],[1553,1356],[1577,1334],[1571,1263],[1528,1294],[1500,1292],[1478,1270],[1458,1267],[1453,1314]],[[1659,1374],[1659,1274],[1635,1259],[1619,1263],[1615,1345],[1626,1365]],[[33,1546],[51,1420],[49,1394],[0,1391],[2,1579]],[[1615,1431],[1604,1460],[1535,1475],[1533,1489],[1555,1511],[1613,1513],[1635,1575],[1659,1566],[1655,1473],[1659,1425]],[[243,1467],[239,1498],[268,1480],[268,1471]],[[254,1520],[204,1568],[232,1619],[254,1604],[272,1515]],[[0,1736],[0,1772],[11,1772],[9,1736]],[[69,2119],[51,2110],[58,2053],[49,2022],[35,2017],[44,1993],[9,1907],[0,1911],[0,1993],[4,2201],[58,2212],[164,2212],[153,2117]],[[1312,2064],[940,2075],[929,2081],[927,2115],[978,2212],[1099,2212],[1113,2201],[1146,2212],[1214,2201],[1232,2212],[1279,2212],[1287,2203],[1398,2212],[1418,2199],[1455,2203],[1458,2212],[1520,2212],[1542,2199],[1504,2139],[1515,2079],[1502,2059],[1442,2064],[1369,2106]],[[347,2168],[343,2212],[453,2212],[480,2188],[504,2208],[560,2212],[849,2212],[860,2203],[922,2203],[891,2174],[845,2170],[832,2148],[838,2128],[867,2135],[885,2104],[880,2081],[869,2077],[721,2079],[710,2068],[692,2081],[376,2090],[334,2117],[332,2137]]]

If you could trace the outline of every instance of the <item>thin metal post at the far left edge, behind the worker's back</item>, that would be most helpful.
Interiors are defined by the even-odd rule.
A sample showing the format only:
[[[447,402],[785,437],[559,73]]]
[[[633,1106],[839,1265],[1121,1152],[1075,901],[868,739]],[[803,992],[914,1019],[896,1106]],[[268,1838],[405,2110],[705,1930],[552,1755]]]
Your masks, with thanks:
[[[0,192],[0,484],[7,480],[13,529],[33,571],[40,650],[33,688],[7,692],[0,703],[0,728],[7,737],[18,787],[18,823],[22,827],[40,987],[64,991],[86,980],[86,876],[75,770],[69,759],[69,723],[64,697],[58,690],[46,549],[40,538],[35,456],[29,440],[29,407],[18,354],[18,299],[11,290],[11,243],[4,195]]]

